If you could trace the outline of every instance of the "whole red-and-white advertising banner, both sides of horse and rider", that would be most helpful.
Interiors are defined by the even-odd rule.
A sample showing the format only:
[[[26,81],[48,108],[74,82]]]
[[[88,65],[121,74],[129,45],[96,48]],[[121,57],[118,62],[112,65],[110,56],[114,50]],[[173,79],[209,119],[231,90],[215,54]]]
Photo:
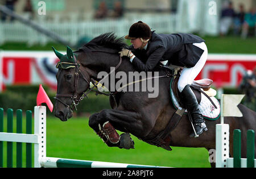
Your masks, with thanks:
[[[1,51],[0,91],[5,85],[16,84],[45,84],[56,90],[57,61],[59,59],[51,51]],[[210,78],[214,86],[236,87],[246,70],[255,67],[256,55],[209,54],[196,80]]]

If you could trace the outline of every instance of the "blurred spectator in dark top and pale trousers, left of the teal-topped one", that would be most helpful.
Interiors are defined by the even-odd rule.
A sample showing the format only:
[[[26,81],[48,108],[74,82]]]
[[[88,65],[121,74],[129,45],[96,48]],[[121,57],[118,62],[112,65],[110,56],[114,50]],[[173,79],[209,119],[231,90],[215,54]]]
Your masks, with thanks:
[[[228,34],[229,28],[233,24],[233,18],[235,16],[235,12],[233,9],[233,3],[229,2],[228,7],[224,8],[221,11],[221,20],[220,20],[220,35]]]

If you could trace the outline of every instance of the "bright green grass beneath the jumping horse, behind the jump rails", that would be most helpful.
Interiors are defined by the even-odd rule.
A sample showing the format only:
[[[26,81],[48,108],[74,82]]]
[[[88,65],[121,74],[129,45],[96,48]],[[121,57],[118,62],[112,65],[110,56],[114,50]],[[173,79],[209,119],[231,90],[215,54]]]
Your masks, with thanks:
[[[26,126],[24,122],[23,126]],[[57,118],[47,118],[48,157],[188,168],[210,167],[208,151],[204,148],[172,147],[172,151],[166,151],[144,143],[135,136],[132,138],[135,141],[135,149],[110,148],[88,126],[88,118],[71,118],[67,122],[61,122]],[[6,146],[6,142],[4,145]],[[26,163],[24,147],[25,144],[23,144],[23,166]],[[15,143],[13,148],[15,154]],[[6,148],[4,154],[4,166],[6,166]],[[13,164],[16,166],[15,155]]]

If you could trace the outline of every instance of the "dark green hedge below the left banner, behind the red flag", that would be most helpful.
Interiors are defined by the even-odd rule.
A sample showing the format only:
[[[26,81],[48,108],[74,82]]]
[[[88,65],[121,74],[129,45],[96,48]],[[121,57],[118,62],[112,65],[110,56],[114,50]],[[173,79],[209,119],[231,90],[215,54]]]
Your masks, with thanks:
[[[44,90],[55,105],[55,92],[52,92],[47,86],[43,86]],[[11,108],[14,111],[17,109],[34,110],[36,106],[36,95],[38,94],[39,85],[15,85],[7,86],[3,93],[0,93],[0,107],[4,109]],[[46,105],[46,104],[43,104]],[[109,97],[105,95],[95,95],[93,92],[84,98],[77,106],[77,111],[73,110],[75,115],[93,114],[102,109],[111,109],[109,105]],[[48,109],[47,109],[48,110]],[[51,114],[47,111],[47,114]],[[53,113],[51,114],[53,115]]]

